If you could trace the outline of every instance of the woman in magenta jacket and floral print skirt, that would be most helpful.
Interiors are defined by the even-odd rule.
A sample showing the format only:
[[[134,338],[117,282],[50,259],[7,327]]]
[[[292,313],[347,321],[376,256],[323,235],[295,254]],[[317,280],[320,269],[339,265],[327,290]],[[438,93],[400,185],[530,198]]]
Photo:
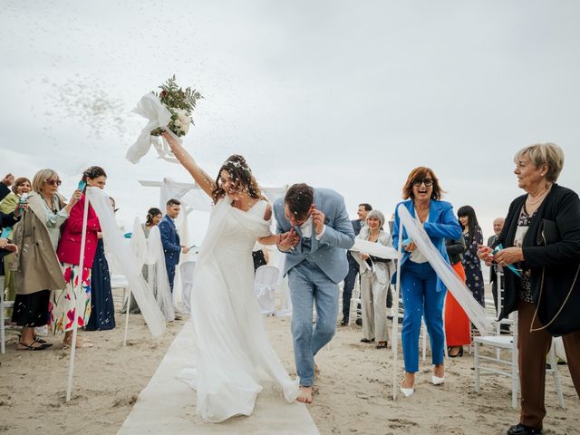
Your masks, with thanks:
[[[82,173],[80,184],[104,187],[107,179],[105,171],[92,166]],[[86,183],[86,184],[85,184]],[[83,189],[84,191],[84,189]],[[97,251],[101,231],[99,218],[89,205],[86,222],[86,239],[84,243],[84,257],[79,267],[82,243],[82,215],[86,201],[84,193],[71,209],[71,217],[63,227],[63,237],[58,245],[57,254],[63,266],[66,285],[61,290],[53,290],[49,303],[48,326],[53,334],[64,333],[63,343],[70,346],[73,343],[74,319],[82,327],[91,316],[91,273],[92,261]],[[79,271],[79,269],[81,269]],[[80,283],[78,283],[80,278]],[[75,287],[79,286],[78,293]],[[92,343],[77,336],[76,347],[92,347]]]

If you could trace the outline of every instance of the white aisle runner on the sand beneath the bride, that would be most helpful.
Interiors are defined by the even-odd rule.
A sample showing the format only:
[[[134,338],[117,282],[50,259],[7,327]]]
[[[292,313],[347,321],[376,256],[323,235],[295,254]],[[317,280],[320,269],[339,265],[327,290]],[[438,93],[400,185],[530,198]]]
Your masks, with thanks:
[[[274,382],[266,383],[249,417],[204,423],[196,414],[196,391],[175,375],[191,361],[193,327],[185,324],[169,346],[118,435],[141,434],[313,434],[319,432],[303,403],[289,404]]]

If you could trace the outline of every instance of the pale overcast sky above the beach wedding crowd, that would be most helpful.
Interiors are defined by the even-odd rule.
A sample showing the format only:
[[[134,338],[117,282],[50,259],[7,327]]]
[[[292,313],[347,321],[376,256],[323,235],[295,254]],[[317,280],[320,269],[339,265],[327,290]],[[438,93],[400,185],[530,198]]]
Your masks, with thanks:
[[[2,2],[0,172],[56,169],[69,196],[106,169],[131,227],[158,206],[138,179],[189,181],[153,152],[124,159],[131,109],[176,74],[205,99],[185,145],[210,174],[233,153],[260,184],[308,182],[390,216],[429,166],[486,237],[523,191],[517,150],[554,141],[580,189],[580,2]],[[192,229],[199,242],[203,225]]]

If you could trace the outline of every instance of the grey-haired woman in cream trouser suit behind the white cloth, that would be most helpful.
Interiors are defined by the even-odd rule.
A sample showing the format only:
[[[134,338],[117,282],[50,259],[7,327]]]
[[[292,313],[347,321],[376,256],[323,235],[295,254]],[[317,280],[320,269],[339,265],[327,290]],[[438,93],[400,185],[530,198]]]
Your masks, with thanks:
[[[384,215],[379,210],[369,211],[366,226],[357,236],[362,240],[392,247],[391,235],[381,228]],[[361,266],[362,343],[376,341],[377,349],[386,349],[389,341],[387,327],[387,293],[394,272],[392,261],[367,254],[353,254]]]

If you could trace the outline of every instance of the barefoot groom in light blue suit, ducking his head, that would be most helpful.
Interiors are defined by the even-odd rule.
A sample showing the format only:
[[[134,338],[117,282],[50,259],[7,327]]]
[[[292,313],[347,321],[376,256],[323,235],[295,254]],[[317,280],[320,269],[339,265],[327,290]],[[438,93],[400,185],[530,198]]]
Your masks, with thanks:
[[[312,403],[314,355],[333,338],[338,316],[338,283],[348,272],[346,251],[353,246],[353,225],[344,199],[331,189],[302,183],[274,203],[278,249],[285,253],[292,299],[292,336],[298,401]],[[313,329],[313,304],[316,324]]]

